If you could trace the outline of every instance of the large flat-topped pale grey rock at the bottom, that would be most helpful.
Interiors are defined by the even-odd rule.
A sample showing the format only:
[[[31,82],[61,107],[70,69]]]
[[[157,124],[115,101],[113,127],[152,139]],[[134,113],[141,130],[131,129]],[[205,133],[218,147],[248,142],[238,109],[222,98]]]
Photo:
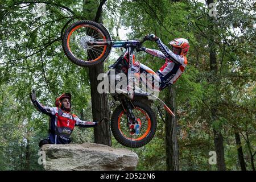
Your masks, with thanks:
[[[138,155],[125,148],[112,148],[103,144],[46,144],[44,169],[63,170],[134,170]]]

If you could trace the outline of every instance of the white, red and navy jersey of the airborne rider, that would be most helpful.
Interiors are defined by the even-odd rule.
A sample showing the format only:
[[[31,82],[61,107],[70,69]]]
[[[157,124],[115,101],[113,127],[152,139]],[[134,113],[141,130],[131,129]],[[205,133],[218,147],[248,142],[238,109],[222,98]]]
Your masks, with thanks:
[[[164,65],[156,72],[160,78],[159,89],[163,90],[166,86],[174,84],[180,75],[184,72],[187,65],[187,57],[176,55],[172,52],[163,42],[158,38],[155,40],[158,45],[159,50],[142,48],[146,53],[152,56],[160,57],[166,62]]]

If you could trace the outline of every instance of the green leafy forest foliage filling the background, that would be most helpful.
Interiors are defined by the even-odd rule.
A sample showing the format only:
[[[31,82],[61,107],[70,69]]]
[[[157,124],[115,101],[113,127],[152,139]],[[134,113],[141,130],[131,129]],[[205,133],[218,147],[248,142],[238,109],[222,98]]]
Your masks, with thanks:
[[[0,8],[0,169],[42,170],[38,142],[48,133],[48,117],[32,106],[29,93],[37,91],[44,105],[53,106],[63,92],[72,93],[73,112],[92,120],[88,69],[64,56],[61,31],[77,19],[94,18],[86,11],[98,3],[56,0],[46,2],[46,14],[38,17],[38,3],[1,1]],[[214,150],[213,129],[224,136],[228,170],[240,170],[234,132],[241,135],[245,162],[255,148],[255,3],[220,1],[217,18],[209,21],[208,9],[198,1],[106,1],[102,20],[112,38],[118,28],[130,28],[131,39],[156,34],[167,44],[182,37],[190,43],[188,65],[176,82],[180,170],[216,170],[208,163]],[[213,38],[213,39],[210,39]],[[210,71],[209,50],[214,42],[217,71]],[[158,49],[154,42],[143,46]],[[117,54],[121,49],[116,49]],[[137,59],[157,71],[164,60],[146,53]],[[114,55],[105,63],[113,63]],[[166,100],[168,89],[160,93]],[[155,113],[158,110],[152,107]],[[165,124],[158,115],[155,138],[142,148],[138,170],[165,170]],[[75,129],[73,143],[93,142],[93,129]],[[113,147],[122,147],[113,139]],[[129,148],[130,149],[130,148]],[[30,154],[30,155],[28,155]]]

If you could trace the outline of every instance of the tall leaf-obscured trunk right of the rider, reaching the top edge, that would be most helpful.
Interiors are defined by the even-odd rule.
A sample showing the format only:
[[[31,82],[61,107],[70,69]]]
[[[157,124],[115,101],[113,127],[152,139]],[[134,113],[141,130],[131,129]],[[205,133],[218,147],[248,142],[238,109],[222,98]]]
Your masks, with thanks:
[[[213,3],[213,0],[207,0],[207,5],[209,7],[210,3]],[[213,73],[212,77],[212,83],[216,82],[217,80],[217,72],[218,72],[218,67],[217,67],[217,58],[216,58],[216,45],[214,43],[214,22],[213,18],[209,16],[209,22],[212,22],[212,25],[209,27],[209,54],[210,54],[210,71]],[[217,105],[212,103],[212,120],[215,122],[217,120]],[[225,158],[224,158],[224,147],[223,147],[223,137],[221,134],[221,129],[213,129],[213,134],[214,134],[214,146],[215,146],[215,151],[217,154],[217,167],[219,171],[225,171],[226,166],[225,166]]]

